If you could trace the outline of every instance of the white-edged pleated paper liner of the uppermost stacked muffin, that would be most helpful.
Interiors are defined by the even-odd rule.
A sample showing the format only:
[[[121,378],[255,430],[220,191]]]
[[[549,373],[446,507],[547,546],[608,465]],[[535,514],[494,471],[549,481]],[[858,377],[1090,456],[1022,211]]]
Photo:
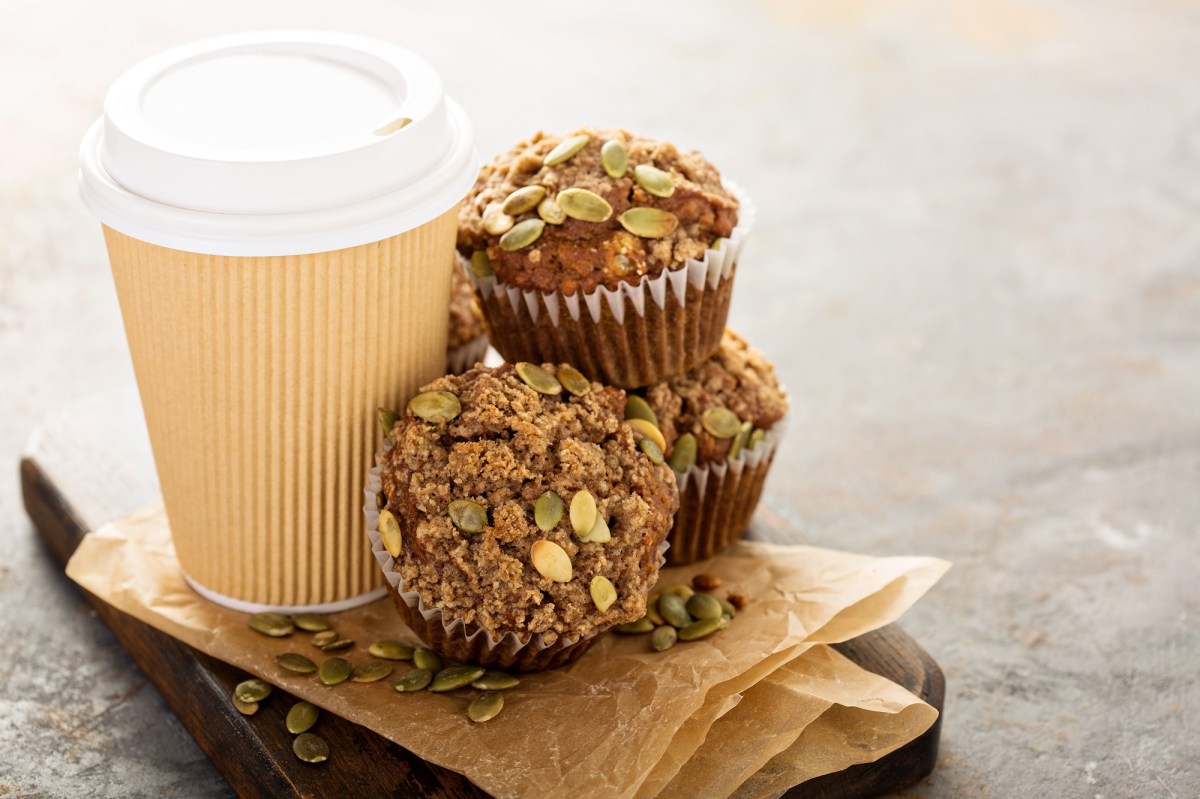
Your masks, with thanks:
[[[733,184],[738,224],[720,250],[616,289],[587,294],[522,290],[494,275],[467,276],[506,361],[571,364],[593,380],[622,388],[661,383],[695,368],[721,343],[738,257],[756,216]]]

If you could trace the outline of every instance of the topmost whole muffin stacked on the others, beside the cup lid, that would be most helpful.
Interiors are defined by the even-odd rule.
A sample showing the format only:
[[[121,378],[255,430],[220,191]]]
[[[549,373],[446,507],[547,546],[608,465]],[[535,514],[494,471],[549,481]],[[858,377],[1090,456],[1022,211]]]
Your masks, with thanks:
[[[620,130],[538,133],[460,211],[492,344],[632,388],[720,343],[752,212],[698,152]]]

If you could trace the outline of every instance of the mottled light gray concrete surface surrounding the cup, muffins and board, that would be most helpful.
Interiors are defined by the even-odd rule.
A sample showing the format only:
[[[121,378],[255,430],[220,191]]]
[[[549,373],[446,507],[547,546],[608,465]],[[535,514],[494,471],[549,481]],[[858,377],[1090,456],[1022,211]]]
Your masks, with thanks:
[[[756,199],[732,323],[792,391],[769,501],[955,567],[907,797],[1200,795],[1200,4],[0,5],[0,795],[227,788],[50,564],[17,457],[132,380],[76,150],[134,60],[316,26],[406,42],[485,155],[614,124]]]

